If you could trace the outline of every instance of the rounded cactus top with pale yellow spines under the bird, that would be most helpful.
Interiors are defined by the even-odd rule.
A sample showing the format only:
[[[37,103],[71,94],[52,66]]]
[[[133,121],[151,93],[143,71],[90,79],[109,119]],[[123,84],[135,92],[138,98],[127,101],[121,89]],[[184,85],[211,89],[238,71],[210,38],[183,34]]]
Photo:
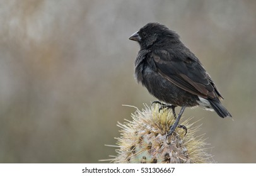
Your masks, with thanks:
[[[117,156],[110,159],[113,163],[211,163],[212,156],[207,154],[204,136],[196,136],[200,126],[190,123],[187,135],[182,128],[175,129],[171,136],[166,133],[175,119],[170,109],[162,109],[154,104],[145,104],[142,111],[132,114],[132,121],[118,123],[122,128],[117,139]],[[183,118],[185,119],[185,118]]]

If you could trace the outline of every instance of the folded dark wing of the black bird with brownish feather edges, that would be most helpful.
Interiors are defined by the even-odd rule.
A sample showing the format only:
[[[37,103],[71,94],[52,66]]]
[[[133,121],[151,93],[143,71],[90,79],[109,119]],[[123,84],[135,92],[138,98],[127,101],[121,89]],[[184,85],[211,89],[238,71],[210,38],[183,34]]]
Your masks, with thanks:
[[[155,50],[150,60],[154,62],[156,72],[181,89],[204,98],[222,98],[211,77],[193,54],[175,58],[166,50]]]

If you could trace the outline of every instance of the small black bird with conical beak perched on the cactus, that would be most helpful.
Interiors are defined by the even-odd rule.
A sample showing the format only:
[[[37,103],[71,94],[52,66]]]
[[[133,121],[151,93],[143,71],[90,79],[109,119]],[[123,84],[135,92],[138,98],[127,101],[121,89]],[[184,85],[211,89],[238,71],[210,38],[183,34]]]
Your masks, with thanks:
[[[185,107],[200,106],[216,111],[221,118],[231,114],[221,105],[223,99],[202,63],[185,47],[175,31],[159,23],[148,23],[130,40],[141,47],[135,60],[135,75],[154,97],[175,107],[181,106],[167,136],[178,126]]]

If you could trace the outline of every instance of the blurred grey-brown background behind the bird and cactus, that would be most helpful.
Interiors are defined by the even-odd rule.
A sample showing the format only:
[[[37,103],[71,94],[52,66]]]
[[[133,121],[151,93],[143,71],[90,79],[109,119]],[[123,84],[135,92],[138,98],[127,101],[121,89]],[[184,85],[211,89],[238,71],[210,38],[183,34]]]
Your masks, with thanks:
[[[256,162],[256,1],[0,1],[0,162],[98,163],[114,137],[154,97],[134,79],[149,22],[177,31],[233,115],[201,108],[218,163]],[[177,109],[179,111],[179,109]]]

